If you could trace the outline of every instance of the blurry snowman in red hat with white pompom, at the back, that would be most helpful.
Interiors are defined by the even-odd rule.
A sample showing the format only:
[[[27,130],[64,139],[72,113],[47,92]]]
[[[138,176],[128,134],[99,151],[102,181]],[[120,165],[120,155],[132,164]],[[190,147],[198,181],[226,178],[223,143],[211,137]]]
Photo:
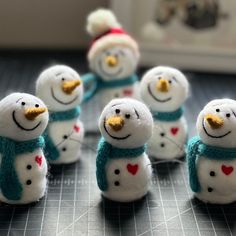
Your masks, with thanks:
[[[87,18],[87,31],[93,41],[88,52],[91,73],[82,77],[85,101],[98,93],[101,109],[113,98],[138,96],[139,48],[110,10],[98,9]],[[92,84],[92,85],[91,85]]]

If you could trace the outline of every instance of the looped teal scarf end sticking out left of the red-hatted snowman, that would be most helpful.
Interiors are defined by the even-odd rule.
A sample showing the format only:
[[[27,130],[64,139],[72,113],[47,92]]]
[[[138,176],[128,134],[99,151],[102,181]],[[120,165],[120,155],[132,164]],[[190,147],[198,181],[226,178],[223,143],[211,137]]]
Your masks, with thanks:
[[[93,73],[87,73],[81,76],[81,79],[85,87],[85,94],[83,98],[83,103],[84,103],[89,101],[96,94],[98,90],[98,81],[96,75]]]

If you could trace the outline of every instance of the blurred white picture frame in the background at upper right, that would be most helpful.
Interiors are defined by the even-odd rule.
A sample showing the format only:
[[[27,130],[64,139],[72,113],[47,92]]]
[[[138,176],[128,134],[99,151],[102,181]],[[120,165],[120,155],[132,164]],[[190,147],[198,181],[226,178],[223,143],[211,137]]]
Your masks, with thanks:
[[[186,22],[184,25],[183,21],[181,22],[180,20],[181,18],[179,19],[177,17],[172,20],[173,22],[179,21],[178,24],[176,23],[176,27],[172,26],[172,32],[173,29],[179,32],[181,27],[185,28],[185,30],[182,29],[182,32],[185,33],[185,38],[183,37],[183,39],[189,39],[187,43],[185,43],[184,40],[183,42],[160,40],[160,38],[163,37],[163,33],[165,34],[167,32],[165,26],[161,26],[162,30],[160,30],[159,34],[157,33],[156,36],[153,36],[154,33],[150,33],[151,30],[153,30],[153,25],[156,23],[157,4],[160,3],[160,1],[178,2],[178,0],[111,0],[111,9],[124,28],[137,39],[140,45],[140,64],[142,66],[171,65],[180,69],[193,71],[236,72],[236,16],[232,14],[232,12],[236,10],[235,1],[202,0],[218,1],[218,4],[221,4],[221,12],[219,13],[218,10],[217,14],[221,14],[222,19],[212,17],[216,20],[215,23],[212,22],[212,19],[207,19],[208,21],[205,19],[204,22],[208,22],[208,25],[199,26],[195,23],[186,25]],[[199,0],[179,1],[199,2]],[[207,14],[209,15],[209,12],[207,12]],[[168,24],[172,23],[170,22]],[[181,24],[183,26],[181,26]],[[218,25],[220,26],[219,30],[222,32],[218,29],[219,32],[214,29],[217,28]],[[202,28],[198,29],[197,27]],[[151,37],[153,36],[153,39],[147,37],[148,30],[150,31],[149,34]],[[171,32],[170,29],[168,30]],[[219,37],[217,37],[217,33]],[[173,32],[172,35],[173,34],[175,34],[175,32]],[[222,41],[218,40],[218,43],[215,43],[216,38],[220,39],[220,37],[222,37]],[[225,40],[227,41],[226,43],[223,41],[224,37],[227,39]]]

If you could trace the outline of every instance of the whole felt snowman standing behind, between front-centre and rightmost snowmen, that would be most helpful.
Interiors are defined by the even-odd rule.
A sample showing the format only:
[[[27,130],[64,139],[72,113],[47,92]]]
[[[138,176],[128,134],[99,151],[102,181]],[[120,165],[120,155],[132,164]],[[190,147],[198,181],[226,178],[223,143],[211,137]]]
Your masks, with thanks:
[[[188,81],[179,70],[158,66],[142,78],[140,92],[154,118],[148,154],[171,160],[184,155],[187,125],[182,105],[188,95]]]

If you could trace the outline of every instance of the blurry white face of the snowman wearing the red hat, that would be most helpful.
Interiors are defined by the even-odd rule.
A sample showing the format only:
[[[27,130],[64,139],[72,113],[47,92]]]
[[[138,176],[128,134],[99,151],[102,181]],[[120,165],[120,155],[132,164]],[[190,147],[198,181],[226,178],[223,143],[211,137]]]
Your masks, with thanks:
[[[109,46],[96,53],[90,60],[90,68],[105,81],[123,79],[135,72],[138,59],[125,45]]]

